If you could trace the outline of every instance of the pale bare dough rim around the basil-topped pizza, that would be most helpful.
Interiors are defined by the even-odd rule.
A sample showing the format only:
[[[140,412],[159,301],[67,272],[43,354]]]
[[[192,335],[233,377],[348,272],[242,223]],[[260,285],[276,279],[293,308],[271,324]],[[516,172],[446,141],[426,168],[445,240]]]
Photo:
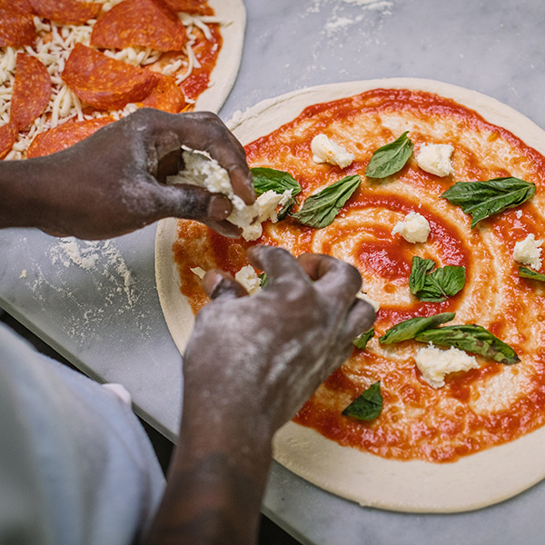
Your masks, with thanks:
[[[284,94],[250,108],[230,124],[242,144],[272,133],[312,104],[378,89],[439,94],[477,111],[545,154],[545,134],[500,102],[451,84],[410,78],[331,84]],[[193,312],[180,293],[173,262],[176,221],[159,224],[157,286],[163,312],[180,352],[193,327]],[[501,375],[500,375],[501,376]],[[475,510],[505,500],[545,478],[545,428],[451,463],[395,461],[342,447],[317,431],[289,422],[274,438],[274,458],[307,481],[364,506],[412,512]]]

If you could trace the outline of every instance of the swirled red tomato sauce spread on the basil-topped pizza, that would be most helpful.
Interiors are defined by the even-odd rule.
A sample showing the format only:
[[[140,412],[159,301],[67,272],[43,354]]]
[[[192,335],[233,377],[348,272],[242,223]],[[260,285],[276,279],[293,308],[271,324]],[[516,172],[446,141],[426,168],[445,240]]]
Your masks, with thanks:
[[[390,178],[364,175],[372,153],[404,131],[418,152],[421,144],[451,144],[454,173],[439,178],[422,171],[414,155]],[[327,134],[355,155],[348,168],[312,162],[311,141]],[[333,372],[295,421],[332,441],[398,459],[455,461],[512,441],[545,423],[545,291],[519,278],[514,244],[529,233],[544,238],[545,158],[510,132],[470,109],[435,94],[378,89],[306,108],[292,123],[246,146],[252,166],[292,173],[303,201],[342,177],[359,173],[360,188],[332,225],[312,229],[288,218],[267,223],[255,243],[274,244],[295,255],[329,253],[355,265],[364,291],[381,303],[376,335],[364,351]],[[471,229],[471,217],[441,198],[458,181],[516,176],[535,183],[532,199]],[[393,226],[407,213],[431,225],[426,243],[408,243]],[[181,221],[174,245],[182,292],[196,312],[206,298],[190,267],[238,271],[250,243],[232,241],[200,224]],[[420,302],[409,290],[412,256],[438,266],[463,265],[466,284],[445,302]],[[542,272],[542,271],[541,271]],[[480,369],[451,374],[434,390],[421,380],[414,354],[423,344],[380,345],[378,337],[414,316],[456,312],[452,323],[477,323],[512,346],[512,366],[480,356]],[[381,381],[384,409],[376,421],[356,421],[342,410],[373,382]]]

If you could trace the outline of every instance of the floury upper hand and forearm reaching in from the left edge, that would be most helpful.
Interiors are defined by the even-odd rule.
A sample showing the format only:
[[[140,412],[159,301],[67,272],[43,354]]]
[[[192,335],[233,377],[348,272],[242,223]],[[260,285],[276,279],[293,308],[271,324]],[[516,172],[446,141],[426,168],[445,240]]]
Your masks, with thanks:
[[[182,145],[210,154],[229,173],[233,192],[253,203],[243,147],[216,115],[141,109],[57,154],[3,162],[0,227],[102,239],[174,216],[238,234],[225,222],[232,211],[226,197],[163,183],[180,169]]]

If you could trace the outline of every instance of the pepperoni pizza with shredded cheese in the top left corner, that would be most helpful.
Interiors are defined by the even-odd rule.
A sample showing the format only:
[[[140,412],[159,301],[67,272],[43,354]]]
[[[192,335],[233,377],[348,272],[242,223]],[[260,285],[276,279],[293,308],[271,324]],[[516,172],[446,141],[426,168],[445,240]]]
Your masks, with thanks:
[[[0,0],[0,158],[60,151],[143,106],[217,112],[242,0]]]

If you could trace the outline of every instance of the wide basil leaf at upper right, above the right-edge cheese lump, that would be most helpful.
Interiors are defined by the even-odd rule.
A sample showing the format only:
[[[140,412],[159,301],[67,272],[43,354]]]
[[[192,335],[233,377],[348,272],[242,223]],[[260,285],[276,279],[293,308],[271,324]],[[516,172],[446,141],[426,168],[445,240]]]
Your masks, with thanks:
[[[472,229],[490,215],[524,203],[535,191],[535,183],[507,177],[486,182],[457,182],[441,197],[452,204],[459,204],[465,213],[471,214]]]

